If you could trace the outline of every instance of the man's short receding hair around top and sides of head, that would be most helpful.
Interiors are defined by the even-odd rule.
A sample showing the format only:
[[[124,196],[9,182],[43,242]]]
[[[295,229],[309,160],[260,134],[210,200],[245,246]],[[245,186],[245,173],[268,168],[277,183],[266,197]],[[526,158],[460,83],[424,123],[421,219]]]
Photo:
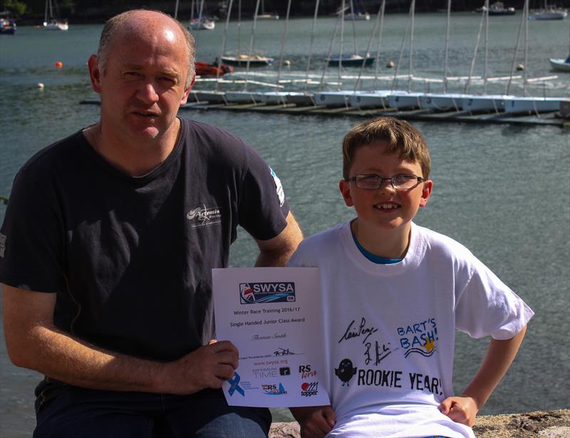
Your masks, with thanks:
[[[99,48],[97,50],[97,65],[100,71],[103,74],[105,73],[105,65],[107,63],[107,58],[109,56],[110,45],[111,42],[113,41],[113,38],[115,37],[115,34],[125,24],[125,22],[128,21],[128,19],[130,19],[130,17],[133,14],[139,11],[157,12],[158,14],[162,14],[163,16],[167,16],[169,19],[174,21],[177,24],[177,26],[180,28],[180,31],[182,31],[182,34],[186,39],[186,45],[188,48],[188,77],[186,78],[185,82],[185,88],[188,88],[192,83],[192,78],[194,78],[195,74],[194,61],[196,55],[196,47],[194,44],[194,37],[190,34],[188,29],[185,28],[185,26],[182,23],[180,23],[180,21],[172,18],[172,16],[165,14],[162,11],[155,11],[152,9],[133,9],[131,11],[125,11],[121,14],[111,17],[105,22],[105,26],[103,26],[103,31],[101,31],[101,37],[99,39]]]

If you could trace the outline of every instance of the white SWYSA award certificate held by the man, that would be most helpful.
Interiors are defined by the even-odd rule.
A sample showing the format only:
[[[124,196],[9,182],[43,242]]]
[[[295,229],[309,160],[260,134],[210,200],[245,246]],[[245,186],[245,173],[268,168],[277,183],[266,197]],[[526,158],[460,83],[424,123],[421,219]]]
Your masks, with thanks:
[[[212,269],[218,340],[239,350],[228,405],[330,405],[318,268]]]

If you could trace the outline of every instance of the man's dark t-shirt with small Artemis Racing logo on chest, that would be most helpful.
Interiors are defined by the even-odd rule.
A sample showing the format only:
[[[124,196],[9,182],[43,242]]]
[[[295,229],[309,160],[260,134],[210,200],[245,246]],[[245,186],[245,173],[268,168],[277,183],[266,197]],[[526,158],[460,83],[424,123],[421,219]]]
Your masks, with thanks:
[[[34,155],[0,231],[0,281],[57,293],[58,328],[120,353],[173,360],[214,338],[211,269],[227,266],[238,224],[271,239],[289,207],[251,147],[181,122],[175,149],[142,177],[81,131]]]

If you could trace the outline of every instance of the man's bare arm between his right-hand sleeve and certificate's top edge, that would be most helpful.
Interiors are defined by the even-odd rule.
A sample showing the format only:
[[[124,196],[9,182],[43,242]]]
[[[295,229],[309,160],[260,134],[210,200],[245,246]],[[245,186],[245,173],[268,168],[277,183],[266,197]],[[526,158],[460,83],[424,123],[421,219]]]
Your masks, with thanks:
[[[285,266],[297,246],[303,240],[303,233],[293,213],[287,215],[287,225],[279,235],[269,240],[255,240],[259,256],[255,266]]]

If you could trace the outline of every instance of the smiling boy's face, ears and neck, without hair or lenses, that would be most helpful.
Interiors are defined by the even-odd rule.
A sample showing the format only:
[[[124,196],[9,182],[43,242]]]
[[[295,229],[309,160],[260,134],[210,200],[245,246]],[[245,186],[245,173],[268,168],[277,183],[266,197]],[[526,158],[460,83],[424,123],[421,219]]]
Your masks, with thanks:
[[[386,154],[384,150],[384,142],[359,147],[349,177],[361,174],[377,174],[383,178],[398,174],[423,177],[419,162],[401,160],[397,154]],[[341,181],[339,187],[344,201],[348,207],[354,207],[358,215],[353,231],[360,244],[379,256],[403,256],[408,247],[410,222],[418,209],[427,204],[432,184],[427,180],[411,189],[397,190],[390,180],[383,179],[378,189],[363,189],[357,187],[356,182]]]

